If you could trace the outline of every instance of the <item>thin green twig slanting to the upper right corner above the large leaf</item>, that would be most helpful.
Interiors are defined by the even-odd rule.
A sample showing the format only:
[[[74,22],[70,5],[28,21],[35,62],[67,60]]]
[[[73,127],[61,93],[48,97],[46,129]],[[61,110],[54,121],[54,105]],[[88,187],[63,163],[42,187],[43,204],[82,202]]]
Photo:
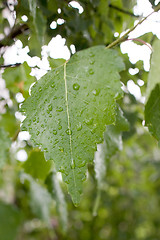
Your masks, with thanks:
[[[112,42],[111,44],[109,44],[106,48],[112,48],[114,46],[116,46],[117,44],[124,42],[125,40],[127,40],[128,35],[141,23],[143,23],[148,17],[150,17],[153,13],[157,12],[158,10],[160,10],[160,4],[158,4],[155,8],[154,11],[151,12],[149,15],[147,15],[146,17],[144,17],[142,20],[140,20],[135,26],[133,26],[131,29],[129,29],[122,37],[116,39],[114,42]]]

